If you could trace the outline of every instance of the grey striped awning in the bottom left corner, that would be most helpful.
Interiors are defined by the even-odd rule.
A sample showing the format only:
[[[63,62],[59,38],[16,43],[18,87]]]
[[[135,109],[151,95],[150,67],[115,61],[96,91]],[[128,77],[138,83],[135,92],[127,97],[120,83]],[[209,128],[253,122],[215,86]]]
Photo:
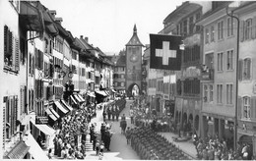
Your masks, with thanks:
[[[11,151],[8,152],[7,157],[9,159],[23,159],[24,156],[28,153],[30,147],[24,143],[23,140],[20,140]]]

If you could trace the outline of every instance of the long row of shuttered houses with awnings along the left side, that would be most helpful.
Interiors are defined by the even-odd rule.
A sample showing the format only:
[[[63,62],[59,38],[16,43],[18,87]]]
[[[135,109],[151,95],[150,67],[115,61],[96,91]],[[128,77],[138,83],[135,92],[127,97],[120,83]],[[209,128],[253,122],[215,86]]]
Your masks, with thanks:
[[[96,103],[95,84],[112,89],[112,64],[39,1],[3,0],[0,9],[3,158],[47,160],[42,148],[61,118],[84,102]]]

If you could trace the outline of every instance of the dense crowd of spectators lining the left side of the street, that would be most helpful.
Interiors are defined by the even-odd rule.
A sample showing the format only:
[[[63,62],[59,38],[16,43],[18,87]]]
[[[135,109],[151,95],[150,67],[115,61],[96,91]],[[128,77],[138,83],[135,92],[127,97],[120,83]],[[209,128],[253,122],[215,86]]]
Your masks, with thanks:
[[[84,105],[64,116],[55,127],[54,155],[59,159],[84,159],[86,156],[86,135],[89,123],[96,117],[94,104]]]

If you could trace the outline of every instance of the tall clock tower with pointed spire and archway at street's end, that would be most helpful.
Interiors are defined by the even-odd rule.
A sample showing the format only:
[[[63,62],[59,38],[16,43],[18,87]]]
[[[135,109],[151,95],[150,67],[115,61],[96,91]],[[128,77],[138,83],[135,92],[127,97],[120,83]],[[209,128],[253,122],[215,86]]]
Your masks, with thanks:
[[[137,27],[133,27],[133,35],[126,44],[126,94],[132,96],[132,89],[134,85],[138,85],[141,93],[142,81],[142,47],[137,35]]]

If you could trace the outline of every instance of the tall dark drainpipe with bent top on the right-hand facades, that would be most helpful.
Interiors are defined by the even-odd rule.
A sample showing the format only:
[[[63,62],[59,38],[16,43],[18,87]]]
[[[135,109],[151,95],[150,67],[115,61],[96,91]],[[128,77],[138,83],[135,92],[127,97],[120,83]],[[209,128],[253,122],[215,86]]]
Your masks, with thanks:
[[[228,13],[228,8],[236,8],[239,6],[239,3],[233,2],[230,5],[228,5],[225,9],[226,15],[230,18],[234,18],[237,21],[237,39],[236,39],[236,76],[235,76],[235,109],[234,109],[234,138],[233,138],[233,148],[236,150],[236,142],[237,142],[237,111],[238,111],[238,64],[239,64],[239,28],[240,28],[240,21],[239,18],[233,16],[233,11],[231,11],[231,14]]]

